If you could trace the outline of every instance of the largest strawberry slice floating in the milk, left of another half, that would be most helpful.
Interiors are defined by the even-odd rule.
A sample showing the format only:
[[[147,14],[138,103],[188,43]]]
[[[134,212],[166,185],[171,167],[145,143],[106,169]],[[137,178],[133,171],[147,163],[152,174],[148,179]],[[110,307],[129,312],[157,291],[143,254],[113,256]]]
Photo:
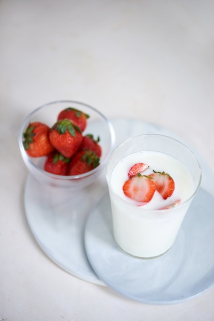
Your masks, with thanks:
[[[146,204],[153,198],[155,183],[149,176],[138,174],[125,181],[123,193],[137,202]]]

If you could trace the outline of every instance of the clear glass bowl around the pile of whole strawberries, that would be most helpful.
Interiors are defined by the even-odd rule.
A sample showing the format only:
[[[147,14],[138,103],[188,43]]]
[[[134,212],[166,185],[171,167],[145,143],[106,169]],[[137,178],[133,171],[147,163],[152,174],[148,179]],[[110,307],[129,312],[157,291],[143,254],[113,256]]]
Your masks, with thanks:
[[[62,176],[46,172],[43,168],[47,157],[30,157],[23,146],[23,134],[29,123],[41,122],[51,128],[56,123],[59,112],[68,107],[81,110],[90,116],[87,119],[87,128],[84,130],[83,135],[89,133],[93,134],[95,138],[99,136],[99,144],[102,148],[100,165],[87,173],[74,176]],[[80,189],[93,183],[102,172],[115,145],[115,132],[111,122],[94,107],[80,102],[63,100],[42,105],[32,111],[20,128],[18,144],[28,170],[41,184],[48,184],[58,188]]]

